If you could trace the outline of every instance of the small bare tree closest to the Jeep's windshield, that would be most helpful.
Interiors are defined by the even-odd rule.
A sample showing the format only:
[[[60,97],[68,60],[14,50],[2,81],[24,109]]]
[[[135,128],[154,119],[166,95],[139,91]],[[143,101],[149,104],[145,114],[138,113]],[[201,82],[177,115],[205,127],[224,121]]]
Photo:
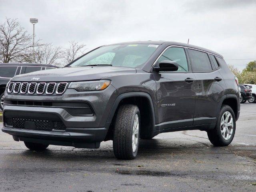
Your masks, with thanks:
[[[62,57],[66,64],[83,55],[86,50],[84,49],[86,46],[85,44],[78,44],[78,42],[75,42],[74,40],[69,42],[69,44],[69,48],[65,48],[62,52]]]

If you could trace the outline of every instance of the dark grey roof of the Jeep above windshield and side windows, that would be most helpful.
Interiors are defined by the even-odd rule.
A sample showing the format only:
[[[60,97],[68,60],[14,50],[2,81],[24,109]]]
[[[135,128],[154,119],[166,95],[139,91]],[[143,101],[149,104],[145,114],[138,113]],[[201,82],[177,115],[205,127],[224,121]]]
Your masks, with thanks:
[[[132,42],[114,43],[112,45],[117,45],[117,44],[157,44],[157,45],[165,45],[165,46],[170,46],[170,45],[186,46],[186,47],[206,51],[206,52],[209,52],[212,54],[216,54],[216,55],[220,56],[221,58],[223,58],[223,56],[221,54],[218,54],[215,51],[212,51],[212,50],[209,50],[206,48],[202,48],[202,47],[198,47],[198,46],[194,46],[194,45],[190,45],[190,44],[186,44],[186,43],[179,43],[179,42],[172,42],[172,41],[132,41]]]

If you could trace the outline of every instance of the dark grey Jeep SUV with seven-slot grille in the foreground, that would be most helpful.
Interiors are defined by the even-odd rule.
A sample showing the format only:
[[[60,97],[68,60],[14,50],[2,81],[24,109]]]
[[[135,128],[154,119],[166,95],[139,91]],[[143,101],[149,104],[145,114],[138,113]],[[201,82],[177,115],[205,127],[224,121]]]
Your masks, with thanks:
[[[212,144],[227,146],[239,114],[238,81],[220,54],[177,42],[126,42],[12,78],[2,131],[32,150],[113,140],[117,158],[133,159],[140,138],[163,132],[204,130]]]

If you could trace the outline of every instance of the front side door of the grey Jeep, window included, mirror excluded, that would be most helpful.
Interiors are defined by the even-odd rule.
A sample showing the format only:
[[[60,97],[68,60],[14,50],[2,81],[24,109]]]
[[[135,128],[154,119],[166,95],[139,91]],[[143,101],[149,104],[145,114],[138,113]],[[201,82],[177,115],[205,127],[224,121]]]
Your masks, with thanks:
[[[154,73],[159,129],[191,126],[196,100],[196,79],[184,48],[168,48],[157,62],[163,60],[175,61],[179,68],[174,72]]]

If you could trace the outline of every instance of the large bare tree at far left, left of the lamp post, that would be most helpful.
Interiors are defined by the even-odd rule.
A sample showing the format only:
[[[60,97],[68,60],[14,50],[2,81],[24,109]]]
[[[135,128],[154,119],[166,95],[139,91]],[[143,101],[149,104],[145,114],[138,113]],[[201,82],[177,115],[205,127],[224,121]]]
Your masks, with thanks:
[[[0,62],[22,62],[33,46],[32,36],[27,34],[17,19],[6,18],[0,24]]]

